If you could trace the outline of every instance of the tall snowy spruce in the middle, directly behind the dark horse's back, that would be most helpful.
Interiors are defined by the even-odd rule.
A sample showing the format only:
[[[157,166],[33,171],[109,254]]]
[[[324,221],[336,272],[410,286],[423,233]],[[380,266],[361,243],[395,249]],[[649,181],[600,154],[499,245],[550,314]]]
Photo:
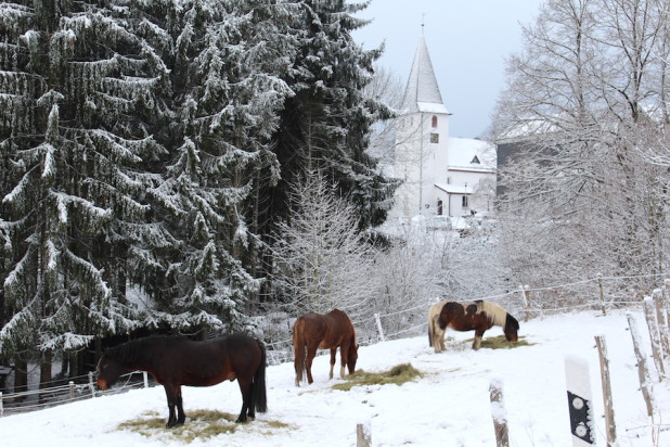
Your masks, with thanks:
[[[158,259],[150,323],[175,329],[246,324],[259,280],[247,270],[257,238],[250,202],[259,179],[275,182],[269,150],[278,108],[289,94],[269,65],[282,60],[273,1],[186,1],[175,41],[170,161],[149,193],[176,241]]]

